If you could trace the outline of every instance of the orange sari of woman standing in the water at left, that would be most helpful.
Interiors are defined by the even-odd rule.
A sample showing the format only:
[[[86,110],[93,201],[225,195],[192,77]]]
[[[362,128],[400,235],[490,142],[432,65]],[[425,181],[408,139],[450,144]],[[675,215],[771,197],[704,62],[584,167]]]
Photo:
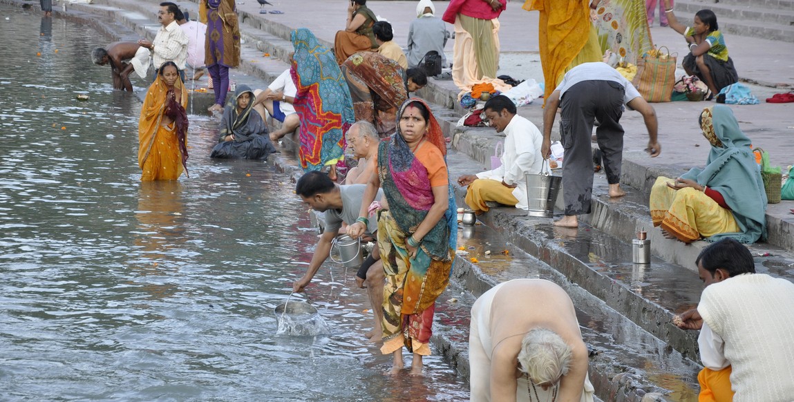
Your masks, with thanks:
[[[187,106],[187,89],[177,79],[174,92],[182,94],[180,103]],[[175,124],[162,126],[168,86],[162,75],[157,75],[149,86],[138,121],[138,167],[141,181],[175,180],[183,173],[182,155],[176,137]],[[187,136],[185,138],[187,146]]]

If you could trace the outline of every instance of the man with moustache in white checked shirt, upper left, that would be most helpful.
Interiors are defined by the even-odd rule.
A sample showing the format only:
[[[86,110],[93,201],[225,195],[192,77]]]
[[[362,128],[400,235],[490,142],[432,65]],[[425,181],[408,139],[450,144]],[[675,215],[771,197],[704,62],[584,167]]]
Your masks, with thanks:
[[[157,21],[163,26],[157,31],[154,41],[145,39],[138,40],[138,44],[152,51],[152,63],[155,67],[155,75],[160,71],[160,66],[167,61],[172,61],[179,68],[179,76],[185,81],[185,63],[187,63],[187,35],[179,24],[176,23],[176,16],[181,14],[179,7],[172,2],[160,3],[160,11],[157,12]]]

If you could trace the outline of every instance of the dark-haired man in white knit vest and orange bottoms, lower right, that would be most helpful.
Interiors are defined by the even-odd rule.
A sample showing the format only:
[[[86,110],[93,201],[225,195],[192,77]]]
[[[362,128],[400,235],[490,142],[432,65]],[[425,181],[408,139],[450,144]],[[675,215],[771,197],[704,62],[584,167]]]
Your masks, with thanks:
[[[794,399],[794,284],[756,274],[734,239],[706,247],[696,264],[706,289],[673,324],[700,329],[699,400]]]

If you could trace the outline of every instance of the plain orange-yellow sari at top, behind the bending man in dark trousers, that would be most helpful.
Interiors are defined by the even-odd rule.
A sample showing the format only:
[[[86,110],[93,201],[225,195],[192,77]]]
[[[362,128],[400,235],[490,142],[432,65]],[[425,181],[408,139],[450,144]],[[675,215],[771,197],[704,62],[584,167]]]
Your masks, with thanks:
[[[592,22],[589,0],[526,0],[527,11],[540,11],[541,63],[545,80],[545,99],[557,87],[565,68],[588,42]],[[598,60],[595,60],[598,61]]]

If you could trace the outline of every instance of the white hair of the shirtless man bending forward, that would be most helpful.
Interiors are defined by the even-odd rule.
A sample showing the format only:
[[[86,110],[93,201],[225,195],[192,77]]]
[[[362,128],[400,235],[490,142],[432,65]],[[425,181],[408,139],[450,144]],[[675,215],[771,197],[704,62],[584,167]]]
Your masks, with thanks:
[[[571,346],[547,328],[535,328],[524,335],[518,352],[518,369],[535,384],[554,385],[568,374]]]

